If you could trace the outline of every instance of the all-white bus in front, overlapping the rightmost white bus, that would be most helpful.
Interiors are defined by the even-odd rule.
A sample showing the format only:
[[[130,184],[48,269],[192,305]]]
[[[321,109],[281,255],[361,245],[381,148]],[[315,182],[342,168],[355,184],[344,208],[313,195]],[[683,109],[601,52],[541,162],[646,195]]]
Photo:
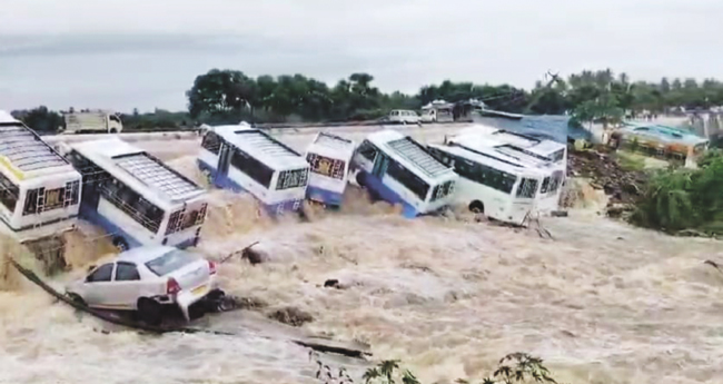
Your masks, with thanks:
[[[535,211],[535,195],[542,178],[539,170],[507,156],[459,144],[429,145],[427,148],[459,175],[455,205],[514,225],[524,225]]]

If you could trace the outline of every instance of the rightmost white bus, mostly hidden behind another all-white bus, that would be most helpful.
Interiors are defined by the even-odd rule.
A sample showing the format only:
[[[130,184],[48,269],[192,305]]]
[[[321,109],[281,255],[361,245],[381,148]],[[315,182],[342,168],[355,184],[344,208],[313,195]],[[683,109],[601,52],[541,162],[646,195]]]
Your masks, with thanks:
[[[565,144],[486,126],[462,129],[447,142],[458,142],[478,150],[493,148],[499,154],[541,168],[541,171],[546,175],[539,184],[536,208],[541,213],[559,209],[562,186],[567,175],[567,146]]]

